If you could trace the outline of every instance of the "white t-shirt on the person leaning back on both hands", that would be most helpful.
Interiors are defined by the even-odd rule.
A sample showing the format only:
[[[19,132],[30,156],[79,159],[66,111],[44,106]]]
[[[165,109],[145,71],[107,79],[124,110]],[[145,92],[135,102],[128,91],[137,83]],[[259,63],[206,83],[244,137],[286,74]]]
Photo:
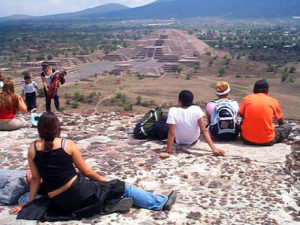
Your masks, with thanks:
[[[199,106],[192,105],[186,109],[172,107],[169,110],[167,123],[175,125],[177,144],[190,145],[200,136],[198,120],[204,116]]]

